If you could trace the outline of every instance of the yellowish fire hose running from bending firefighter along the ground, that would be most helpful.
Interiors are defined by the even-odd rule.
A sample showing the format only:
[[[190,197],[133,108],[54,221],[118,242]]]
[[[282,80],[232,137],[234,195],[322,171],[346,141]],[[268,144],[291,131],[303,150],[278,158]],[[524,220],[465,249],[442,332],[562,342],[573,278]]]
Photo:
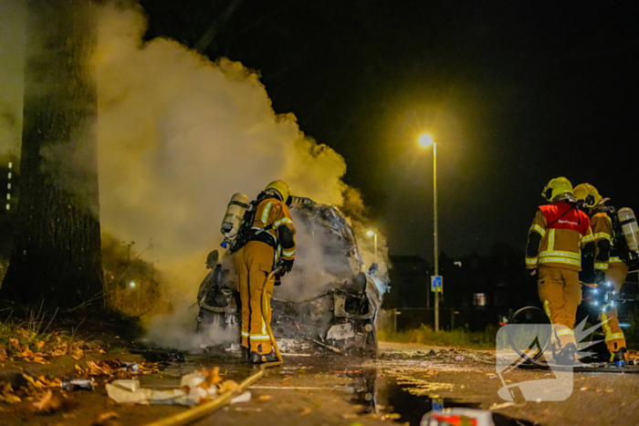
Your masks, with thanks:
[[[246,388],[251,386],[257,380],[262,379],[266,374],[267,369],[273,367],[279,367],[284,364],[284,360],[282,359],[282,354],[279,353],[278,342],[275,340],[275,336],[273,336],[273,330],[271,329],[270,318],[267,318],[268,312],[268,303],[267,303],[267,287],[268,283],[274,278],[276,274],[278,274],[279,269],[274,269],[270,274],[267,275],[267,280],[264,282],[264,286],[262,287],[262,319],[264,319],[264,323],[267,325],[267,333],[268,338],[271,341],[271,345],[273,346],[273,350],[275,351],[275,355],[278,357],[277,361],[273,362],[265,362],[259,366],[259,371],[257,373],[247,377],[244,379],[236,390],[231,392],[226,392],[224,395],[221,395],[215,400],[210,400],[199,407],[196,407],[191,410],[186,410],[181,413],[175,414],[171,417],[167,417],[162,419],[161,421],[153,421],[152,423],[147,423],[145,426],[183,426],[185,424],[191,424],[194,421],[202,419],[204,416],[211,414],[217,409],[224,407],[231,400],[236,398],[236,396],[240,395]]]

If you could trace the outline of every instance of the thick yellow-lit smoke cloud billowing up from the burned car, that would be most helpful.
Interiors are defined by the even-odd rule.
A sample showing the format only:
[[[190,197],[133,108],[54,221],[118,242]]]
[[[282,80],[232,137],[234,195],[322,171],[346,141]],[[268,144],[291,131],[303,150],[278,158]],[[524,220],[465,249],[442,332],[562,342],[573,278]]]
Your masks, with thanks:
[[[137,246],[152,244],[144,256],[162,270],[176,306],[180,298],[195,301],[205,256],[222,241],[219,226],[234,192],[254,198],[281,179],[296,195],[345,203],[342,157],[306,137],[293,114],[277,115],[255,71],[226,58],[213,63],[171,39],[142,42],[141,9],[105,5],[98,16],[102,230]],[[14,79],[20,74],[10,72]],[[19,117],[21,96],[14,95],[22,87],[5,86],[3,102],[11,100],[8,109]],[[4,117],[3,110],[3,132],[12,129]],[[19,141],[19,134],[9,140]],[[348,192],[354,195],[347,203],[361,203]],[[319,251],[301,229],[299,243],[303,252]],[[372,241],[361,243],[372,252]],[[379,253],[382,246],[381,240]],[[362,252],[370,265],[372,255]],[[315,263],[320,271],[319,259],[300,256],[298,265]]]

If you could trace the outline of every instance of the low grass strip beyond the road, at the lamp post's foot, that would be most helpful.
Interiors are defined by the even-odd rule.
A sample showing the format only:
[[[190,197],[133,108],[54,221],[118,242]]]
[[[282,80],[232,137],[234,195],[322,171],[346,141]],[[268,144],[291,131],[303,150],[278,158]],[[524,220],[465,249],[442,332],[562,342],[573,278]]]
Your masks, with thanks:
[[[380,330],[378,338],[386,342],[414,343],[455,348],[494,349],[498,327],[487,327],[484,331],[466,331],[456,328],[451,331],[438,331],[422,324],[412,330],[392,331]]]

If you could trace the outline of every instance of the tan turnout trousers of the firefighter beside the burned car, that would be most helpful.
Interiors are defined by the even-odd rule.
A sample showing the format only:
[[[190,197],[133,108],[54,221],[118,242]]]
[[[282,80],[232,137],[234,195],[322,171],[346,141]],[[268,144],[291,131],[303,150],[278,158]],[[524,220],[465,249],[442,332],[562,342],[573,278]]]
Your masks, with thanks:
[[[269,354],[273,350],[262,311],[265,311],[270,323],[270,301],[275,280],[271,279],[267,283],[267,297],[264,302],[262,289],[267,275],[273,269],[274,255],[273,247],[258,241],[249,242],[236,254],[236,274],[242,300],[242,346],[260,354]]]

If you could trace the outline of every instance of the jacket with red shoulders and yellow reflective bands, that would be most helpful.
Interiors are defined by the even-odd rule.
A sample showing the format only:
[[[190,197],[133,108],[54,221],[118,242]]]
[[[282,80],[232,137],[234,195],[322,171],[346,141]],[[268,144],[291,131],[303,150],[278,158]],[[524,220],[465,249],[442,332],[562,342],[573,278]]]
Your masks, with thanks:
[[[530,226],[529,235],[534,233],[541,239],[537,250],[527,249],[529,269],[545,265],[581,271],[581,248],[594,241],[588,215],[566,202],[540,206]]]

